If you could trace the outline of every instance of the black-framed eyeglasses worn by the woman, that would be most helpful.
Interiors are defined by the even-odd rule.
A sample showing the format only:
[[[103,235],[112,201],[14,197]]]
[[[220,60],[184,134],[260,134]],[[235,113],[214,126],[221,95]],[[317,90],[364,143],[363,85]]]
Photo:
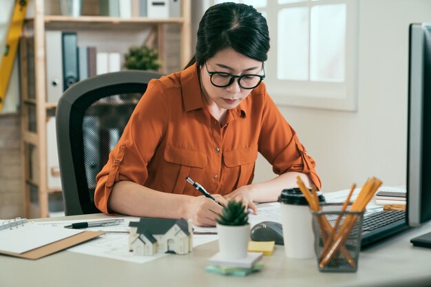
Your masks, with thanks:
[[[242,89],[254,89],[265,78],[265,68],[263,65],[263,75],[244,74],[241,76],[236,76],[227,72],[209,72],[207,62],[205,62],[205,67],[207,68],[211,84],[215,87],[228,87],[229,85],[232,85],[235,78],[238,78],[238,85],[240,85]]]

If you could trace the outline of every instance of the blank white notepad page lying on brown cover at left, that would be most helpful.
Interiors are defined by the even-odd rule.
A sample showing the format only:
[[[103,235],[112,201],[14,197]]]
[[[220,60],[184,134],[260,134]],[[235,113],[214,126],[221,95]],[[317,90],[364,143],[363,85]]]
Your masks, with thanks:
[[[0,251],[21,254],[82,232],[78,229],[41,226],[26,220],[21,220],[19,224],[13,221],[0,222]]]

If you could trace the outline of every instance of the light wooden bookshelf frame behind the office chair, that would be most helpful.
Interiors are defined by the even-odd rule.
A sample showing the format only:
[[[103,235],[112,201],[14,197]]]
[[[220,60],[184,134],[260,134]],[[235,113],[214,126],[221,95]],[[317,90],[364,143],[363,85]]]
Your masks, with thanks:
[[[105,48],[115,45],[120,54],[126,52],[130,45],[153,43],[163,63],[160,72],[172,72],[167,68],[166,41],[168,28],[174,26],[180,34],[178,66],[185,67],[192,56],[191,0],[181,1],[181,17],[168,19],[98,16],[96,0],[83,1],[84,16],[70,17],[60,14],[56,1],[33,2],[34,15],[25,20],[20,43],[22,186],[25,217],[28,218],[48,217],[50,198],[61,198],[61,187],[48,187],[47,158],[50,151],[47,149],[53,143],[47,140],[47,123],[54,117],[57,103],[48,102],[46,96],[46,31],[76,32],[84,45]]]

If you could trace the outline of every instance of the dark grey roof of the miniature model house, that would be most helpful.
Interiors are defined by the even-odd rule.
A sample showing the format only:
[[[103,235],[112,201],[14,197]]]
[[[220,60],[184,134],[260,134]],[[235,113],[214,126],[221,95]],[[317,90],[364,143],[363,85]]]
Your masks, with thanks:
[[[137,233],[144,234],[143,231],[148,231],[149,235],[165,234],[175,224],[185,233],[190,235],[187,221],[184,218],[169,219],[169,218],[140,218],[139,222],[130,222],[129,226],[138,227]],[[148,237],[146,234],[144,234]],[[152,237],[152,236],[151,236]]]

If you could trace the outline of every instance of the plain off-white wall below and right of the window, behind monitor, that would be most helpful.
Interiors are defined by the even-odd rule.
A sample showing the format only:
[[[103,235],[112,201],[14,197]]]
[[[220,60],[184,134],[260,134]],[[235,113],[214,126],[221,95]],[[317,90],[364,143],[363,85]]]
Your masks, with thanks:
[[[280,107],[317,161],[322,190],[406,184],[408,25],[431,22],[430,0],[359,1],[358,109]],[[273,178],[259,158],[255,182]]]

